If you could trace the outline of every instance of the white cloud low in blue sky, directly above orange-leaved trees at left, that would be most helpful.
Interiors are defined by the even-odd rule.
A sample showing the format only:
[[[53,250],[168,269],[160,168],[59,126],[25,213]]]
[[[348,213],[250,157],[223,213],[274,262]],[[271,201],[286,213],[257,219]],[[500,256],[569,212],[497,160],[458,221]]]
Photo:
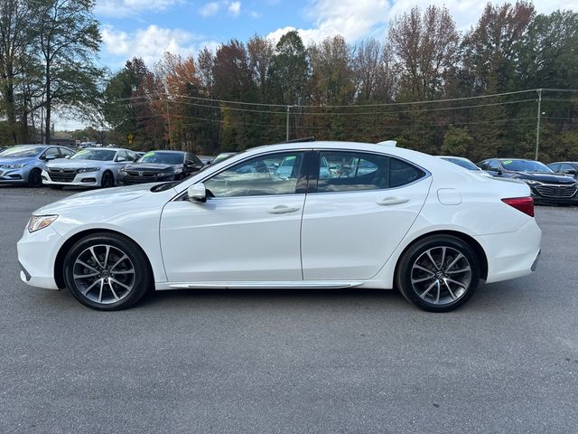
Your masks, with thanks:
[[[200,35],[182,29],[166,29],[149,25],[135,33],[117,31],[111,26],[101,29],[104,51],[125,60],[140,57],[152,65],[164,52],[191,56],[207,46],[213,49],[218,42],[204,40]]]

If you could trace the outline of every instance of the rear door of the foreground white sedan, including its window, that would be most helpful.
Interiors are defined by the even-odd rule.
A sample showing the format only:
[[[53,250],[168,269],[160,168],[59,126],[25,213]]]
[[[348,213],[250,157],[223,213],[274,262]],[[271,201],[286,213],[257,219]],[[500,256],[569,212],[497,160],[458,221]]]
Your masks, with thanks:
[[[320,151],[316,162],[303,209],[303,278],[372,278],[415,222],[431,176],[382,154]]]

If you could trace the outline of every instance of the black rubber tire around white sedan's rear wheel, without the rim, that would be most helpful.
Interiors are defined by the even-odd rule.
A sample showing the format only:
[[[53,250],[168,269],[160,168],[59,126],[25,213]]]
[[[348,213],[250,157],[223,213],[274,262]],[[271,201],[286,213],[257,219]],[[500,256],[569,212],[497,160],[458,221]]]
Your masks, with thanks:
[[[471,282],[470,287],[467,289],[466,294],[464,294],[458,300],[442,306],[437,306],[432,303],[428,303],[423,298],[419,297],[414,290],[411,282],[411,272],[412,266],[425,250],[432,249],[434,247],[448,246],[453,249],[459,250],[466,259],[470,262],[471,267]],[[406,250],[402,256],[399,267],[396,272],[396,287],[399,288],[400,292],[407,301],[416,307],[420,307],[428,312],[450,312],[452,310],[461,307],[475,292],[478,284],[480,283],[480,259],[476,255],[475,251],[471,249],[471,246],[461,239],[454,237],[452,235],[433,235],[426,237],[423,240],[417,241],[409,249]]]

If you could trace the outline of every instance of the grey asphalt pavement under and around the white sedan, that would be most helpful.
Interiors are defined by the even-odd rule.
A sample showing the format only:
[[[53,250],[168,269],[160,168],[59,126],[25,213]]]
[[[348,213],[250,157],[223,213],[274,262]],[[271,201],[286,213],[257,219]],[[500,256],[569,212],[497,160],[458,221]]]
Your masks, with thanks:
[[[54,199],[0,191],[2,433],[576,432],[576,210],[538,209],[538,272],[451,314],[359,289],[102,313],[17,278],[14,244]]]

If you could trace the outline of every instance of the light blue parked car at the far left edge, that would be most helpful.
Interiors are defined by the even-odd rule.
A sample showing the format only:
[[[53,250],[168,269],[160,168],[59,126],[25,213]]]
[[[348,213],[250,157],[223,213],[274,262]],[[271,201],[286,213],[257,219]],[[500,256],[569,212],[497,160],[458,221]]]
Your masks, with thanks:
[[[47,162],[72,156],[65,146],[16,145],[0,152],[0,184],[42,185],[42,168]]]

